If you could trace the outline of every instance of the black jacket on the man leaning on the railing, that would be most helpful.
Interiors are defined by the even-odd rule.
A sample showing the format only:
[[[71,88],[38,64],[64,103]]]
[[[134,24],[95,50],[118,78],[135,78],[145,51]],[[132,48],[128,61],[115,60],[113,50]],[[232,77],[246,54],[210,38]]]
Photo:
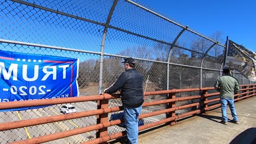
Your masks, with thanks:
[[[127,69],[105,93],[112,94],[118,90],[121,90],[121,100],[124,107],[141,106],[144,102],[143,76],[135,68]]]

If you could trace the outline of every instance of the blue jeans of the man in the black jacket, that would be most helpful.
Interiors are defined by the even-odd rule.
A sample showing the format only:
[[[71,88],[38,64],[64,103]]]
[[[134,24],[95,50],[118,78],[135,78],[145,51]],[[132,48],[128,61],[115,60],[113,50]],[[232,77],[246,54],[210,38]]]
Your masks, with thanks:
[[[142,106],[138,108],[124,107],[124,123],[126,124],[126,133],[129,143],[138,143],[138,125],[141,109]]]

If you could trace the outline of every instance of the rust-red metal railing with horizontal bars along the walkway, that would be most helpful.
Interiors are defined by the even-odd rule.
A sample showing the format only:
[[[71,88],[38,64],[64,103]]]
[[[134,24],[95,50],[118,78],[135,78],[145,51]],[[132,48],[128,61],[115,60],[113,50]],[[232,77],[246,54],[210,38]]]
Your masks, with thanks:
[[[235,95],[235,101],[246,99],[255,96],[256,87],[254,85],[240,85],[242,89],[238,94]],[[203,113],[212,108],[220,106],[220,98],[209,99],[219,95],[217,93],[208,94],[207,91],[213,90],[213,87],[205,88],[194,88],[194,89],[180,89],[180,90],[165,90],[165,91],[151,91],[146,92],[146,97],[155,95],[156,97],[161,97],[161,94],[167,94],[167,98],[163,100],[155,100],[151,102],[143,103],[142,114],[140,115],[143,124],[139,126],[139,130],[145,130],[157,125],[164,123],[176,124],[176,119],[186,117],[189,115]],[[183,92],[199,92],[200,95],[186,95],[186,97],[178,98],[177,95]],[[102,95],[92,95],[88,97],[73,97],[73,98],[63,98],[63,99],[45,99],[45,100],[31,100],[31,101],[15,101],[15,102],[5,102],[0,105],[0,109],[7,108],[18,108],[18,107],[31,107],[31,106],[43,106],[43,105],[59,105],[61,103],[74,103],[74,102],[90,102],[99,100],[100,103],[104,103],[97,110],[86,110],[86,108],[81,109],[77,113],[66,114],[66,115],[53,115],[53,116],[35,116],[29,119],[19,120],[16,119],[13,122],[4,122],[0,124],[0,134],[3,139],[1,143],[103,143],[109,140],[113,140],[124,136],[126,133],[123,130],[115,131],[121,123],[124,123],[123,119],[113,119],[110,121],[110,113],[120,113],[123,107],[111,107],[109,104],[110,100],[118,99],[119,94],[102,94]],[[194,101],[190,104],[175,105],[176,102],[182,102],[186,100],[200,99],[200,101]],[[211,105],[211,102],[215,102]],[[168,107],[164,109],[155,109],[151,111],[147,107],[154,107],[161,104],[167,104]],[[50,106],[52,107],[52,106]],[[195,108],[192,111],[186,113],[179,113],[179,110],[187,108]],[[54,107],[53,107],[54,108]],[[18,112],[17,112],[18,113]],[[97,121],[93,116],[99,115],[100,121]],[[157,121],[147,123],[156,117],[163,117]],[[94,123],[87,125],[87,118],[92,119]],[[82,120],[82,121],[81,121]],[[78,123],[79,121],[79,123]],[[58,123],[59,122],[59,123]],[[60,125],[60,123],[77,123],[77,127],[74,129],[66,129],[62,131],[57,131],[54,125]],[[46,125],[47,124],[47,125]],[[51,125],[51,126],[50,126]],[[46,126],[46,127],[45,127]],[[31,133],[31,130],[37,130],[37,132]],[[23,135],[23,130],[28,130],[30,138]],[[121,132],[120,132],[121,131]],[[95,136],[96,134],[96,136]],[[12,137],[10,137],[12,135]],[[87,135],[87,136],[86,136]],[[94,136],[93,136],[94,135]]]

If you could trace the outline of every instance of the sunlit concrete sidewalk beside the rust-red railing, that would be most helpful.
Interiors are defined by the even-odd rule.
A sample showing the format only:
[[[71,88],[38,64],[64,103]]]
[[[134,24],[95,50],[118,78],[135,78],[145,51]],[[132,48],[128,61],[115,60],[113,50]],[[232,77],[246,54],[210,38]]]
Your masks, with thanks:
[[[178,121],[170,126],[158,126],[158,129],[140,132],[139,144],[155,143],[256,143],[256,97],[235,102],[239,124],[221,121],[221,109],[208,114],[198,114]],[[232,119],[228,108],[228,118]],[[254,142],[253,142],[254,140]]]

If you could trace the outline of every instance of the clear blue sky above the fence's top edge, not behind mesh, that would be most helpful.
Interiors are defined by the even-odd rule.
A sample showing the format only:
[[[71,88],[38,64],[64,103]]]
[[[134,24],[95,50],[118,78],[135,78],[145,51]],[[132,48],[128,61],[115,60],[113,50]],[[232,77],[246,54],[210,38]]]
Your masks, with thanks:
[[[256,1],[254,0],[138,0],[199,34],[222,31],[223,38],[256,52]]]

